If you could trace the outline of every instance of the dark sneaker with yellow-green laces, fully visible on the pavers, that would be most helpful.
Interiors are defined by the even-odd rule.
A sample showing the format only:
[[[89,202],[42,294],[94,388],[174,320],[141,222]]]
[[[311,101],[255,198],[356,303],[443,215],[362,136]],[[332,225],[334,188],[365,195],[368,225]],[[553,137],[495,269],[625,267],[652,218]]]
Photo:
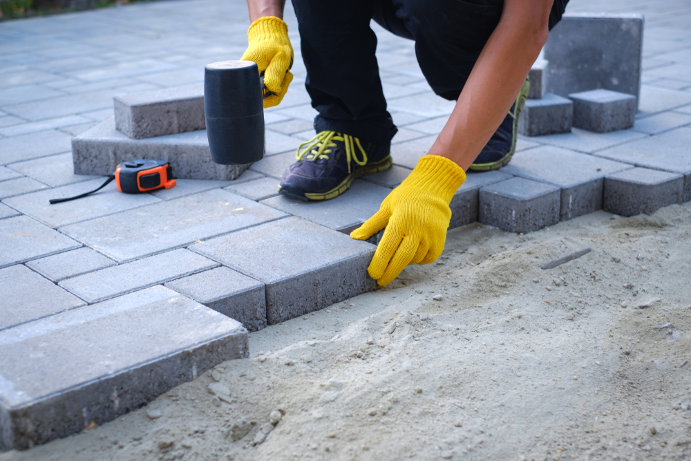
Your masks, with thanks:
[[[305,202],[337,197],[356,178],[389,169],[390,146],[368,142],[363,147],[358,138],[350,135],[336,131],[317,133],[298,147],[298,161],[283,173],[278,193]]]

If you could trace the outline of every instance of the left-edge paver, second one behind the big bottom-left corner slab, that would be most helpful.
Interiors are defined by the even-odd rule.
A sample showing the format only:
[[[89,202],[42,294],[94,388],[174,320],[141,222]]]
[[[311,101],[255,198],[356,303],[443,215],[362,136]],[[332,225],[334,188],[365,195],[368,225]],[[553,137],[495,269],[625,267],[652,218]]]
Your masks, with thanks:
[[[0,267],[23,263],[82,245],[28,216],[0,220]]]

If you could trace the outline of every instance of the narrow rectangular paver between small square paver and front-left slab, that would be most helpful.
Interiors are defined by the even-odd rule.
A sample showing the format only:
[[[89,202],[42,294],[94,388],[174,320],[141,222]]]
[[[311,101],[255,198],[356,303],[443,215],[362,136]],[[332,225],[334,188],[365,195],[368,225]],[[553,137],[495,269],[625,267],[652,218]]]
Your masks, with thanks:
[[[199,254],[180,248],[78,275],[58,285],[91,304],[196,274],[217,265]]]

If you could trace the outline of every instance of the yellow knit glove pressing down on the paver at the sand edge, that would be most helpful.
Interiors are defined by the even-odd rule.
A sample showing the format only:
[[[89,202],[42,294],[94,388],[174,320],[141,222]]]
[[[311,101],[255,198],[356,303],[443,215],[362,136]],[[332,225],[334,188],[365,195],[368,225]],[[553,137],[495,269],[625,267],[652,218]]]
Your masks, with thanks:
[[[429,264],[444,251],[453,194],[466,180],[457,164],[440,156],[424,156],[401,185],[381,203],[375,216],[350,233],[366,240],[386,227],[368,272],[388,285],[409,264]]]

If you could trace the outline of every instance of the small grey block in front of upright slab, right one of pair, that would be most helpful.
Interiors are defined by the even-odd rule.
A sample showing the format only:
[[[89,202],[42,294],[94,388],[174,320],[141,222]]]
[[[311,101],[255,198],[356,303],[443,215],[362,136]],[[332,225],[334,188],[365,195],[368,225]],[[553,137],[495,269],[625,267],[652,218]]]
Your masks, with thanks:
[[[571,93],[574,126],[595,133],[623,130],[634,126],[636,97],[609,90]]]

